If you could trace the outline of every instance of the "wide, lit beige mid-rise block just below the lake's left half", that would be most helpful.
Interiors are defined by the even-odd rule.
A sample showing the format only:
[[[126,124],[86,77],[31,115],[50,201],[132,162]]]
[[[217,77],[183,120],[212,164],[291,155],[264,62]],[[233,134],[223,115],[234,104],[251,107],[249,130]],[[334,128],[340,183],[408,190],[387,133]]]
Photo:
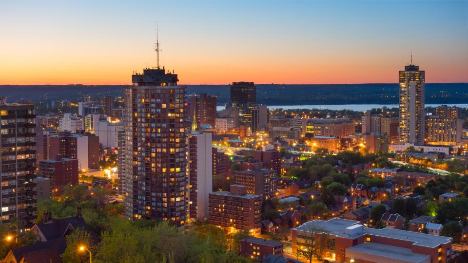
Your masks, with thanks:
[[[307,121],[306,132],[313,136],[341,138],[354,133],[354,122],[348,118],[310,119]]]

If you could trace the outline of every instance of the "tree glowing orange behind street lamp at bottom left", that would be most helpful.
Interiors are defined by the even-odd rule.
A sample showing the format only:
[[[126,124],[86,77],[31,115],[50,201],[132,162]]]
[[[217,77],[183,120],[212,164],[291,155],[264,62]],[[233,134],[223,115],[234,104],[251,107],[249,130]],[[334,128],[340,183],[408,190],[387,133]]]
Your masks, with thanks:
[[[62,260],[63,262],[70,263],[81,263],[89,258],[87,251],[83,252],[79,250],[80,246],[86,247],[91,252],[95,252],[95,247],[93,244],[93,239],[91,234],[84,230],[81,227],[78,227],[71,233],[66,236],[67,248],[63,253]]]

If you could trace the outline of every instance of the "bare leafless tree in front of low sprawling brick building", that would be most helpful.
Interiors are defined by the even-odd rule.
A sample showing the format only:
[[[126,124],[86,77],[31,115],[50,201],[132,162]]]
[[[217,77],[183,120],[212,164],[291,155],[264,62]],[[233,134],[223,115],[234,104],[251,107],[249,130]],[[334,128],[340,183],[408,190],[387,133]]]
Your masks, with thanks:
[[[303,231],[297,231],[297,254],[304,257],[309,263],[312,263],[313,259],[322,260],[322,254],[327,249],[327,244],[327,233],[313,224],[306,225]]]

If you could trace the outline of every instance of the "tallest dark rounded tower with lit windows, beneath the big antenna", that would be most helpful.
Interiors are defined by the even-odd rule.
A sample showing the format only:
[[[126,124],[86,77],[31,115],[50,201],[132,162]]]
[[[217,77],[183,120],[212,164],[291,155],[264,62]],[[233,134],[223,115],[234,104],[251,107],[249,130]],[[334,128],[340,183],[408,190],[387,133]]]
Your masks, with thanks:
[[[125,180],[128,218],[185,224],[186,86],[164,69],[144,69],[125,86]]]

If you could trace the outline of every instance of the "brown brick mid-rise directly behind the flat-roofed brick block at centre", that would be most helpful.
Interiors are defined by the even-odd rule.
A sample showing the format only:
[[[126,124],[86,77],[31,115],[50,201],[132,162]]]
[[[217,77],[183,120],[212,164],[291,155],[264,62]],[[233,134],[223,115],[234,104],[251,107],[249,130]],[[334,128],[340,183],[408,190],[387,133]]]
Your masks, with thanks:
[[[274,198],[276,193],[276,171],[254,169],[235,172],[235,184],[245,186],[248,194],[255,194],[262,199]]]

